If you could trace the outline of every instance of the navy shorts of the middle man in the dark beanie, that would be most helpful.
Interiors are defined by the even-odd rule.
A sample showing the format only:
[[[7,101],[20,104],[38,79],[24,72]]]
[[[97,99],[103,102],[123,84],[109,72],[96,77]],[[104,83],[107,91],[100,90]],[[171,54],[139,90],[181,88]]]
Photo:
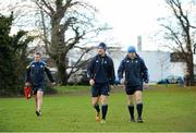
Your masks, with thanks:
[[[100,95],[109,96],[109,84],[95,84],[91,87],[91,97],[98,97]]]

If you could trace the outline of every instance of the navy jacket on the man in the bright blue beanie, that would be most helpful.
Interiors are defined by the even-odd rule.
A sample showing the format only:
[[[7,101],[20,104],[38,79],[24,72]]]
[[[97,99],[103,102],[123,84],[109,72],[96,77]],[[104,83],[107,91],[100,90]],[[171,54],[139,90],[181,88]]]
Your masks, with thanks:
[[[119,80],[123,78],[124,72],[127,86],[143,86],[143,82],[148,83],[148,69],[138,55],[134,60],[127,56],[122,60],[118,70]]]

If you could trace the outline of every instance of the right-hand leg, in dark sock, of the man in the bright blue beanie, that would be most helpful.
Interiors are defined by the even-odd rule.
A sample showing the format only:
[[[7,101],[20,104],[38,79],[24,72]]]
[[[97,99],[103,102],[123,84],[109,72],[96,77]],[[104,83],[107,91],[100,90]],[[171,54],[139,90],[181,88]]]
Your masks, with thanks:
[[[142,114],[143,114],[143,100],[142,100],[142,90],[136,90],[135,92],[135,100],[136,100],[136,106],[137,106],[137,122],[143,122]]]

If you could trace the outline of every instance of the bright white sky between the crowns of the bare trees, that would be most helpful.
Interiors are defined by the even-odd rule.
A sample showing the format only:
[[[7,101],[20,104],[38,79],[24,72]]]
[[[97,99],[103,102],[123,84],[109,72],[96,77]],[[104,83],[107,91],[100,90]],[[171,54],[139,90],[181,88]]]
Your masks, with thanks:
[[[98,19],[113,29],[108,36],[123,48],[136,46],[142,36],[144,50],[157,50],[154,40],[160,25],[157,19],[167,16],[164,0],[89,0],[98,9]]]

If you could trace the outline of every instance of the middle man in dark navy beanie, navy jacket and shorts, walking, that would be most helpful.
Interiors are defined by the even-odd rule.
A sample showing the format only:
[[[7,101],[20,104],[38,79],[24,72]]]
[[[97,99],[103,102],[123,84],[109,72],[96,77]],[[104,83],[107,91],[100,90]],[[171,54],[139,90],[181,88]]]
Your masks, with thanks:
[[[87,69],[87,76],[91,86],[91,105],[96,109],[96,121],[101,123],[106,123],[109,87],[114,84],[115,80],[113,61],[106,55],[106,44],[100,43],[98,45],[98,55],[91,59]],[[99,100],[101,102],[101,119]]]

